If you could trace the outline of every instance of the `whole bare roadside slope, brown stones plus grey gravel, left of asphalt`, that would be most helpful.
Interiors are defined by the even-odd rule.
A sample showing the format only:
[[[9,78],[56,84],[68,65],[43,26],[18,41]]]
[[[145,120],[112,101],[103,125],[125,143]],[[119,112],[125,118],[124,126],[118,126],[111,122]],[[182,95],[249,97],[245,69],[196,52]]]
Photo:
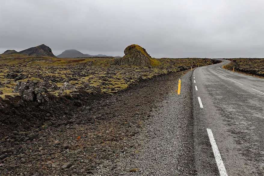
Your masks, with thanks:
[[[185,89],[190,88],[190,72],[182,78],[181,95],[174,93],[183,73],[142,81],[65,113],[41,128],[2,133],[0,175],[126,175],[130,171],[155,174],[158,170],[164,171],[161,175],[192,173],[187,169],[193,153],[189,140],[192,96]],[[156,142],[151,144],[151,139]],[[171,139],[173,142],[165,142]],[[155,149],[145,153],[148,146]],[[159,169],[147,170],[140,159],[147,157],[154,167],[158,161],[150,162],[152,154],[163,156],[160,159],[164,162]]]

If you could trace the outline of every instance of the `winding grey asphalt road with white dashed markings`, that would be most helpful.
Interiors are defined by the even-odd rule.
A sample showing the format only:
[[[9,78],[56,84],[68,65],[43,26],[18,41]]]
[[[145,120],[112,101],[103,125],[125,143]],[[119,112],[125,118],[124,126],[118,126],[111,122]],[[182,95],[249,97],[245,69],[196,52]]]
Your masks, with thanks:
[[[222,69],[222,61],[192,74],[194,167],[198,175],[263,176],[264,79]]]

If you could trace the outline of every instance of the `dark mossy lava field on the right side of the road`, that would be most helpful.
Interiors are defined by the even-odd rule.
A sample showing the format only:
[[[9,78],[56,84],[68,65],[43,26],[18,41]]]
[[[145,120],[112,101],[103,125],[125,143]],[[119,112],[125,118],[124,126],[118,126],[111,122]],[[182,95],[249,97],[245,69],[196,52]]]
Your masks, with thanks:
[[[226,69],[233,70],[233,67],[235,67],[235,71],[264,77],[263,58],[233,58],[227,60],[230,60],[231,63],[225,66]]]

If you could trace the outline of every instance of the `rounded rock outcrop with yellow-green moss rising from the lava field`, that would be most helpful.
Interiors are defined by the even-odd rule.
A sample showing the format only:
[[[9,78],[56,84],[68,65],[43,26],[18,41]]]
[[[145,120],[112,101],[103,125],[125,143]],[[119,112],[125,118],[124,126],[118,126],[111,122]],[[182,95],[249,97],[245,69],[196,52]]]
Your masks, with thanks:
[[[147,52],[145,48],[142,48],[139,45],[129,45],[124,50],[124,57],[119,60],[115,60],[114,64],[116,65],[129,65],[129,66],[143,66],[147,67],[150,65],[158,64],[158,61],[153,59]]]

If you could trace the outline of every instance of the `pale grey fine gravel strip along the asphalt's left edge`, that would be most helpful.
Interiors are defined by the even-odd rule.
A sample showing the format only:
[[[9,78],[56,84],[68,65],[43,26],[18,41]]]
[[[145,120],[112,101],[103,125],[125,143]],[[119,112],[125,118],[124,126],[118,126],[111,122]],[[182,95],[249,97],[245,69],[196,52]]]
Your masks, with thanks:
[[[152,109],[136,155],[124,158],[133,173],[125,175],[195,175],[192,138],[192,72],[181,76],[181,94],[170,93]]]

